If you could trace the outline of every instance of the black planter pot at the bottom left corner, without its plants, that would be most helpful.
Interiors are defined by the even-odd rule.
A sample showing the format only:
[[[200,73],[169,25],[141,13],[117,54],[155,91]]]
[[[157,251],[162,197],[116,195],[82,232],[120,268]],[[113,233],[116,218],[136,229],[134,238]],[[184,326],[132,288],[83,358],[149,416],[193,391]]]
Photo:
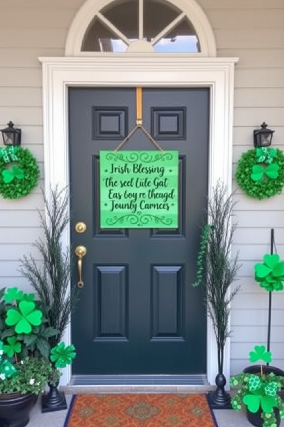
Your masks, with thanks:
[[[37,401],[37,395],[11,393],[0,395],[0,426],[25,427]]]

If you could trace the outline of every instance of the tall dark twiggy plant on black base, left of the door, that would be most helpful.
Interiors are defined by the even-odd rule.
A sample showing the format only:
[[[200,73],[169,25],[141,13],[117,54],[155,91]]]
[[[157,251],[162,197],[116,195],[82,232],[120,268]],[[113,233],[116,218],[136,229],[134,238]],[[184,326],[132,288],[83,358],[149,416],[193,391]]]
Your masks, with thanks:
[[[31,254],[24,256],[20,260],[20,272],[36,291],[49,327],[58,332],[57,335],[47,337],[49,345],[54,347],[63,338],[76,307],[78,290],[76,287],[69,289],[72,257],[70,251],[62,245],[62,234],[69,223],[67,189],[50,189],[49,200],[44,193],[43,199],[45,215],[40,212],[39,215],[44,238],[38,239],[33,245],[39,251],[43,263],[37,263]],[[58,384],[59,381],[56,386],[49,384],[49,393],[42,398],[42,412],[67,408],[65,395],[58,391]]]

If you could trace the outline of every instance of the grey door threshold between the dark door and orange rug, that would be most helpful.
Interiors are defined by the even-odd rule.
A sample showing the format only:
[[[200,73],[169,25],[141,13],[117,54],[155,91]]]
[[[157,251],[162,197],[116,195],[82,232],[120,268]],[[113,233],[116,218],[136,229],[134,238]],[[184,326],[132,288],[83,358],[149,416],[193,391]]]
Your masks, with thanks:
[[[73,375],[66,393],[206,393],[206,375]]]

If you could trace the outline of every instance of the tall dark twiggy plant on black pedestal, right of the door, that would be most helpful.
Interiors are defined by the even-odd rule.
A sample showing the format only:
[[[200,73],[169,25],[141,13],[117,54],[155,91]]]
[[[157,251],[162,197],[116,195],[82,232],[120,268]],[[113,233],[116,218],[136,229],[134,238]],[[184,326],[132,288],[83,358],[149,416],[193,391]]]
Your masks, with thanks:
[[[209,393],[209,402],[213,409],[230,408],[231,398],[225,391],[224,347],[230,336],[229,314],[232,299],[239,287],[231,288],[236,280],[238,254],[232,256],[232,239],[236,223],[232,223],[234,203],[227,187],[218,181],[208,201],[208,224],[201,234],[201,247],[197,260],[197,280],[193,286],[204,287],[204,299],[217,343],[218,374],[216,389]]]

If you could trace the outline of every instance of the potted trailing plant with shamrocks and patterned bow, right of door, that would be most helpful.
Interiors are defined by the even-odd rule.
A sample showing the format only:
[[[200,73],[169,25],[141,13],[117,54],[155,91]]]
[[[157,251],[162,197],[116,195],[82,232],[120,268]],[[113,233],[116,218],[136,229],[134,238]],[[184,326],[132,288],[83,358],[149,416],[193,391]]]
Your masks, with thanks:
[[[250,362],[261,360],[270,363],[271,352],[264,345],[256,345],[250,352]],[[247,407],[247,418],[256,427],[278,427],[280,419],[284,419],[284,375],[283,371],[270,366],[256,365],[245,369],[241,374],[230,378],[232,387],[238,391],[232,397],[232,408],[241,411],[242,405]]]

